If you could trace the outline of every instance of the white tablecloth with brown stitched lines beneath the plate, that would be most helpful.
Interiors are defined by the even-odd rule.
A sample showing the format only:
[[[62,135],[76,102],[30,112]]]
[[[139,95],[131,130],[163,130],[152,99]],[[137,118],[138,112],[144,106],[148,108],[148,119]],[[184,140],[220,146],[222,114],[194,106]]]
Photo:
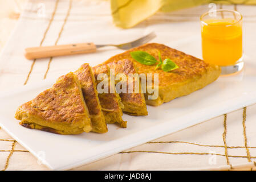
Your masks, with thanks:
[[[255,6],[237,8],[243,14],[246,55],[256,59]],[[75,71],[86,60],[107,60],[120,49],[107,47],[97,53],[26,60],[26,47],[94,42],[123,43],[157,32],[153,42],[201,57],[200,45],[188,45],[200,39],[199,17],[208,6],[173,13],[157,13],[134,28],[113,26],[108,1],[29,1],[17,27],[0,57],[0,88],[7,90],[33,84],[46,78],[58,78]],[[92,64],[91,66],[94,66]],[[75,168],[78,170],[172,170],[172,169],[252,169],[256,158],[256,105],[221,115],[196,126],[131,148],[109,158]],[[162,143],[167,142],[167,143]],[[0,169],[48,169],[20,144],[0,129]]]

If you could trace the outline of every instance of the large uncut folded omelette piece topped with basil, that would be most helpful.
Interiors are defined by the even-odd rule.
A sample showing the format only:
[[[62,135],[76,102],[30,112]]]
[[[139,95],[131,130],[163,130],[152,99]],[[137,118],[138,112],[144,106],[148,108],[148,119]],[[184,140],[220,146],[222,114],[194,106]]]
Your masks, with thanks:
[[[162,69],[155,69],[156,64],[144,65],[132,59],[130,52],[145,51],[157,60],[159,53],[162,60],[171,59],[178,65],[178,69],[170,72],[164,72]],[[158,106],[164,102],[172,101],[174,98],[186,96],[198,89],[204,88],[206,85],[217,80],[221,74],[221,68],[217,65],[208,64],[203,60],[177,51],[163,44],[148,43],[143,46],[129,49],[119,55],[113,56],[104,64],[112,63],[113,61],[132,59],[137,73],[158,73],[159,75],[159,94],[154,100],[148,99],[149,93],[145,94],[145,100],[148,105]],[[152,78],[152,85],[154,78]],[[147,90],[148,91],[148,90]]]

